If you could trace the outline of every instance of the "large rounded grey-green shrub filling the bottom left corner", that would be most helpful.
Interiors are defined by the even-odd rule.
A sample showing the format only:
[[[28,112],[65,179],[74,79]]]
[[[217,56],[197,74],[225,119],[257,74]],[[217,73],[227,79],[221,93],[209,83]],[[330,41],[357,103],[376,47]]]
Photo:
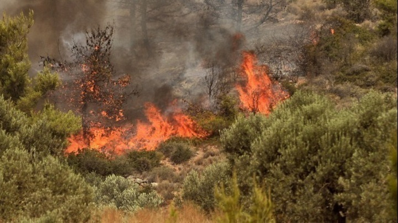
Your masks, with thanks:
[[[25,150],[9,148],[0,158],[0,188],[0,221],[90,218],[92,188],[51,156],[37,160]]]

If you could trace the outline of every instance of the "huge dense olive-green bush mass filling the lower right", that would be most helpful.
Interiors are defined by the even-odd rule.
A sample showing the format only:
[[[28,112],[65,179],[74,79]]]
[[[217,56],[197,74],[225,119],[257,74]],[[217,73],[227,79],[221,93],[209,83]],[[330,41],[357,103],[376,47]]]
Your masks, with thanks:
[[[296,92],[257,119],[238,119],[221,139],[243,193],[253,175],[272,188],[278,221],[396,220],[386,180],[396,97],[371,91],[338,110],[324,96]]]

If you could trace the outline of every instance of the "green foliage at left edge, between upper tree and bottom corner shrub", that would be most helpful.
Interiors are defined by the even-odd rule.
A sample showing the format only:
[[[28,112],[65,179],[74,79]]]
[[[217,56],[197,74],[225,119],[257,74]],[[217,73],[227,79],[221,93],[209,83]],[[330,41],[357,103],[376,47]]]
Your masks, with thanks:
[[[11,101],[0,96],[0,132],[15,138],[13,143],[20,144],[20,148],[29,152],[62,156],[68,143],[66,137],[80,128],[81,119],[72,112],[62,113],[53,106],[47,106],[28,117],[16,109]],[[0,145],[2,143],[6,141],[0,142]],[[0,155],[6,148],[11,147],[0,147]]]

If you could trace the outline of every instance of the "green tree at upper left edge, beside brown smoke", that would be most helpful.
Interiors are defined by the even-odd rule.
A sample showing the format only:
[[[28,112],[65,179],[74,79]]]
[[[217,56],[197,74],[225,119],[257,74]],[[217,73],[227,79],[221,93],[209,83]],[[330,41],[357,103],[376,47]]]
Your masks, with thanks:
[[[59,85],[56,73],[44,67],[34,79],[28,75],[27,34],[33,25],[33,12],[26,17],[4,15],[0,21],[0,95],[29,112],[47,92]]]

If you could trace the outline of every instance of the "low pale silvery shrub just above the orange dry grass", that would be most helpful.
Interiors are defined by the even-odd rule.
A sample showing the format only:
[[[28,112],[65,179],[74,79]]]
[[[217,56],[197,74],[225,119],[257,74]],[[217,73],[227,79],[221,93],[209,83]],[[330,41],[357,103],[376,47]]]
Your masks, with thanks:
[[[140,192],[139,186],[121,176],[109,175],[95,187],[98,206],[111,206],[134,212],[141,208],[156,208],[163,199],[155,191]]]

